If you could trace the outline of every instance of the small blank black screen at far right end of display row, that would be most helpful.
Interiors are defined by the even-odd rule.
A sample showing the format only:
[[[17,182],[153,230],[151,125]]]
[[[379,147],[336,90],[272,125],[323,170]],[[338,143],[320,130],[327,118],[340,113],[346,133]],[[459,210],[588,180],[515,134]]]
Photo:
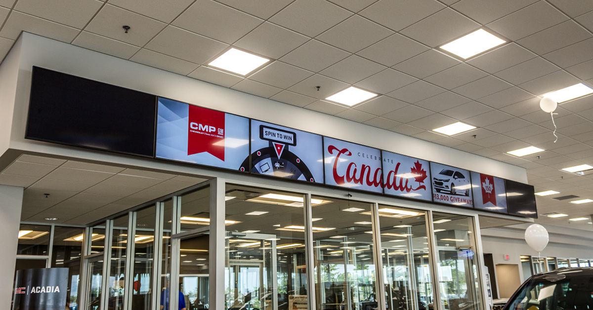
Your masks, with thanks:
[[[506,204],[509,214],[537,219],[535,206],[535,188],[511,180],[505,180]]]

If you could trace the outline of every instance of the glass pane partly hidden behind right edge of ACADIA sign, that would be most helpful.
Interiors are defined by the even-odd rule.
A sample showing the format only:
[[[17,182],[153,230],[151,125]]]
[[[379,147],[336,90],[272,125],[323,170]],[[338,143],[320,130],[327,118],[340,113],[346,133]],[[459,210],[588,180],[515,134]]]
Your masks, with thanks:
[[[58,227],[53,230],[52,267],[68,268],[66,309],[77,308],[83,228]]]

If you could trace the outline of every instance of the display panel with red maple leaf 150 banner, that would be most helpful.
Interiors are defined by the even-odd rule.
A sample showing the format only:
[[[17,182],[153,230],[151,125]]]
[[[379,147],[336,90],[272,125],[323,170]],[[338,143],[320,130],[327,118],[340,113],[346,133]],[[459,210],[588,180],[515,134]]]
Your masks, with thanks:
[[[471,172],[474,208],[506,213],[505,180],[492,175]]]

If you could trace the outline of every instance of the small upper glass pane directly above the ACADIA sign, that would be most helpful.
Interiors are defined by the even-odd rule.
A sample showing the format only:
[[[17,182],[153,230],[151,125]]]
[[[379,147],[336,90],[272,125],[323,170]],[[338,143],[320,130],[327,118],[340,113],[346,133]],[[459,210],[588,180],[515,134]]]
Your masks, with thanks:
[[[18,230],[17,255],[47,255],[51,228],[52,226],[21,224]]]

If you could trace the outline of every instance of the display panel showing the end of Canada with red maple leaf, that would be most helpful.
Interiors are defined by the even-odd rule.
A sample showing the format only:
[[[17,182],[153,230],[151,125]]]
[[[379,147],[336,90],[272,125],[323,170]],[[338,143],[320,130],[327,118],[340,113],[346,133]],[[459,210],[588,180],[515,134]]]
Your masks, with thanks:
[[[382,152],[385,194],[432,201],[428,161]]]

